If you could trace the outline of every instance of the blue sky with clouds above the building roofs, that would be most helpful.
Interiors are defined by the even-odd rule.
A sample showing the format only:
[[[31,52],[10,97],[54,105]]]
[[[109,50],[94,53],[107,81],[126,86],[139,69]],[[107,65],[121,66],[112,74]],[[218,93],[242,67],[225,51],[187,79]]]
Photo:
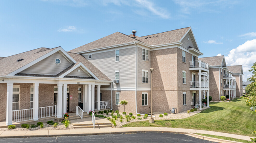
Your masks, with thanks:
[[[0,57],[35,48],[66,51],[117,31],[137,36],[192,27],[201,57],[256,62],[255,0],[2,0]]]

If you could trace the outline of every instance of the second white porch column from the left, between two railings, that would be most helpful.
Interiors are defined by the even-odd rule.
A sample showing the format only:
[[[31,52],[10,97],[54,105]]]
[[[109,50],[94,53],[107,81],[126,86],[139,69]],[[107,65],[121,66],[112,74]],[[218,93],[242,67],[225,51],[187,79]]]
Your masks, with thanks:
[[[34,83],[33,84],[33,120],[38,121],[38,95],[39,95],[39,83]]]

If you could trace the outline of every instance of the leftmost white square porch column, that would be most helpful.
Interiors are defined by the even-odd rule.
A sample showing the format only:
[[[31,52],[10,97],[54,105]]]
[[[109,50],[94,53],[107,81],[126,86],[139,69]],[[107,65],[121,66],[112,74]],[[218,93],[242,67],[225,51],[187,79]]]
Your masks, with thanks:
[[[13,124],[13,83],[7,83],[6,125]]]

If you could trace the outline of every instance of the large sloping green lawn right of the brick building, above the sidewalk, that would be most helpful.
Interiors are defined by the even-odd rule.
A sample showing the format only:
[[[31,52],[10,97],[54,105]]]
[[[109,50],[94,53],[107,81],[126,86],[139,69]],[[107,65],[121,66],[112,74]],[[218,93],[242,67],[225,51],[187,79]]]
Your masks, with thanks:
[[[156,120],[155,123],[140,121],[123,125],[122,127],[172,127],[210,130],[255,136],[256,112],[245,105],[244,99],[236,98],[232,102],[213,102],[207,110],[186,119]]]

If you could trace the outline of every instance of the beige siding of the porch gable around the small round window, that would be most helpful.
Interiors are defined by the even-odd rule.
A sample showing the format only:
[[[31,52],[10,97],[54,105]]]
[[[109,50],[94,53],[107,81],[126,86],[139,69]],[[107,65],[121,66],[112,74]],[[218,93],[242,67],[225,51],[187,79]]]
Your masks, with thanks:
[[[61,64],[55,64],[56,59],[60,59]],[[20,73],[56,75],[71,65],[72,64],[65,57],[59,52],[56,52]]]

